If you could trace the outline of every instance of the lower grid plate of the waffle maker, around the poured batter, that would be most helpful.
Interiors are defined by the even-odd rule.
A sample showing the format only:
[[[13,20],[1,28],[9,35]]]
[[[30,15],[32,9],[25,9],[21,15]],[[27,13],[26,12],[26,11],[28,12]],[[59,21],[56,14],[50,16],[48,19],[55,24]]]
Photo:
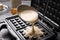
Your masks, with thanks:
[[[28,40],[28,37],[25,37],[23,32],[25,31],[25,28],[30,25],[29,23],[24,22],[18,15],[6,18],[6,22],[9,24],[9,30],[12,29],[12,31],[15,32],[15,34],[19,37],[20,40]],[[39,28],[43,28],[42,31],[45,34],[41,36],[41,40],[55,39],[57,35],[56,32],[49,28],[49,26],[47,26],[45,23],[38,20],[35,25],[39,26]]]

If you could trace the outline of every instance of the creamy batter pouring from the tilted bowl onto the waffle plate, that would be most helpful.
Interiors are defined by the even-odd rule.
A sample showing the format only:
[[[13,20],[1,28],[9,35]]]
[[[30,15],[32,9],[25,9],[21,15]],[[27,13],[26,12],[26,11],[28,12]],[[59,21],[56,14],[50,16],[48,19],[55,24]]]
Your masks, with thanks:
[[[32,38],[37,38],[37,40],[40,40],[40,36],[43,35],[43,32],[41,31],[41,28],[38,28],[34,24],[38,20],[38,14],[34,10],[25,10],[19,13],[19,16],[26,22],[29,22],[32,24],[28,29],[25,31],[25,35],[29,37],[29,40],[32,40]]]

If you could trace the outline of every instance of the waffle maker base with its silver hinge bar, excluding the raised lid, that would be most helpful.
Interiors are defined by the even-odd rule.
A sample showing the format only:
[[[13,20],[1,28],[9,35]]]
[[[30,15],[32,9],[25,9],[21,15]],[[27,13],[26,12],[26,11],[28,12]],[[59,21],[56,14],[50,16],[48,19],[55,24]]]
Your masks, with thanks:
[[[55,28],[58,29],[59,25],[46,17],[45,14],[40,12],[38,12],[38,14],[39,20],[35,25],[43,29],[44,35],[41,36],[41,40],[55,40],[57,36]],[[18,36],[19,40],[29,40],[29,37],[25,37],[23,32],[28,25],[30,26],[30,23],[25,22],[18,15],[6,18],[5,22],[9,25],[9,27],[7,27],[8,30],[13,31]]]

